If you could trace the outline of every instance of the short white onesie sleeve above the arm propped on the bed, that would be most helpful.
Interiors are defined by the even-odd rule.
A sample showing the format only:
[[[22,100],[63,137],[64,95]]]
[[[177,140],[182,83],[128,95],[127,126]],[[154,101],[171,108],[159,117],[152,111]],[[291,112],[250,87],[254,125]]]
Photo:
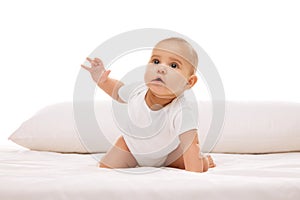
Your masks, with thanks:
[[[190,105],[183,105],[175,114],[174,129],[177,135],[198,129],[198,113]]]

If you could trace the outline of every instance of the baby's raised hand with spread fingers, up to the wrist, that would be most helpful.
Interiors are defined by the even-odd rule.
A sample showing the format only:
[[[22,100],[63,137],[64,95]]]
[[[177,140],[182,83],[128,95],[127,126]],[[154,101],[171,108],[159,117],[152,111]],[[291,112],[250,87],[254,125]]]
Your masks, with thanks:
[[[92,67],[87,67],[84,65],[81,65],[81,67],[90,72],[93,80],[96,83],[104,83],[107,80],[108,75],[111,71],[105,70],[103,63],[99,58],[95,58],[94,60],[91,58],[86,59],[91,63]]]

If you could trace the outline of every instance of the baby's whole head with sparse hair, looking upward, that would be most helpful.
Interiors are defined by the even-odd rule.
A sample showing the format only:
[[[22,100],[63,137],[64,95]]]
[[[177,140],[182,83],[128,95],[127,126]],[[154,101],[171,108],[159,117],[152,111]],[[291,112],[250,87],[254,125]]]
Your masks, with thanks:
[[[176,97],[197,82],[197,65],[197,53],[187,41],[164,39],[153,48],[145,82],[157,96]]]

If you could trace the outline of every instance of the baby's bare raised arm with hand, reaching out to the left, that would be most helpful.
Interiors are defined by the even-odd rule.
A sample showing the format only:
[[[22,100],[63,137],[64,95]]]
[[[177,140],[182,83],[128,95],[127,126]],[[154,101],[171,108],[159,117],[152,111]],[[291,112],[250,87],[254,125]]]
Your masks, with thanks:
[[[85,65],[81,65],[82,68],[86,69],[90,72],[93,80],[97,83],[97,85],[106,92],[113,99],[117,100],[120,103],[125,103],[119,97],[118,91],[120,87],[124,85],[121,81],[111,79],[108,77],[110,70],[106,70],[102,61],[99,58],[91,59],[86,58],[87,61],[91,63],[91,67],[87,67]]]

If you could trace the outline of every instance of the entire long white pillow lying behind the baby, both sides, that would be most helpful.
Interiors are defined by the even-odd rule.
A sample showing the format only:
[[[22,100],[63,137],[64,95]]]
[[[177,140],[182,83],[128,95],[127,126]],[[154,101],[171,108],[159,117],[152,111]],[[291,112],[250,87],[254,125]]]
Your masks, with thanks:
[[[198,102],[199,139],[205,142],[212,119],[210,102]],[[84,115],[85,113],[82,113]],[[106,152],[120,135],[111,101],[95,103],[101,129],[92,148],[86,148],[74,120],[73,103],[50,105],[25,121],[9,139],[40,151],[64,153]],[[212,152],[272,153],[300,151],[300,104],[291,102],[227,101],[221,136]],[[87,123],[88,122],[84,122]],[[84,133],[80,133],[84,134]],[[88,134],[88,133],[87,133]]]

